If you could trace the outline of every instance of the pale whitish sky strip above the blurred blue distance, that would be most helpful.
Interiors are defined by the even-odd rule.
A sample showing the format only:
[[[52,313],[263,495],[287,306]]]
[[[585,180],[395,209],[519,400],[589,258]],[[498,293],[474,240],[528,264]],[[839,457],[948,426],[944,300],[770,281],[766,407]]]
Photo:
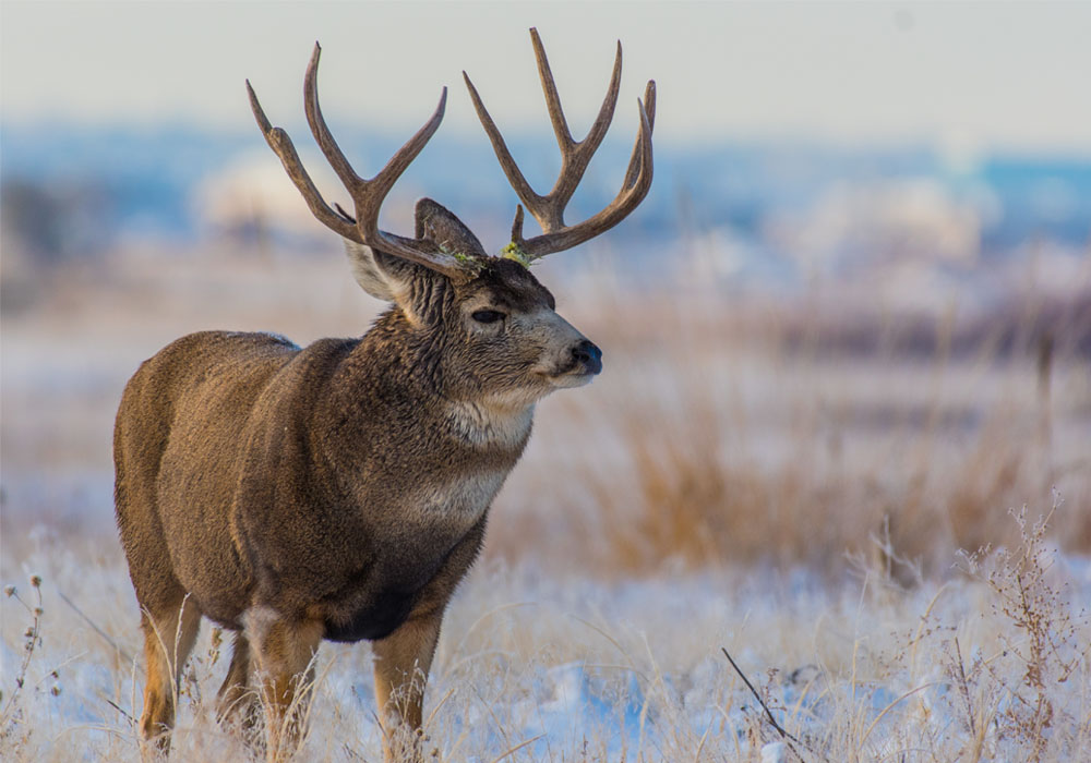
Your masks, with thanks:
[[[466,69],[504,126],[540,126],[537,26],[577,137],[615,39],[616,128],[659,86],[660,140],[924,142],[1091,155],[1091,3],[56,3],[0,4],[5,123],[63,119],[252,129],[250,77],[274,123],[302,119],[315,39],[327,114],[413,130],[451,88],[443,130],[479,131]]]

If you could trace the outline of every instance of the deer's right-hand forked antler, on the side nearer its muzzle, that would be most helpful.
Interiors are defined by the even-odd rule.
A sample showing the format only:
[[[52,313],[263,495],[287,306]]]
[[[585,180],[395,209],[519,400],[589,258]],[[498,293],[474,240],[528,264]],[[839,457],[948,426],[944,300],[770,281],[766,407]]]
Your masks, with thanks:
[[[583,141],[574,141],[568,131],[568,123],[561,109],[561,98],[553,82],[553,73],[550,71],[549,61],[546,58],[546,49],[542,47],[538,31],[530,29],[530,40],[535,46],[535,57],[538,59],[538,73],[542,81],[542,90],[546,94],[546,105],[549,108],[550,120],[553,122],[553,132],[556,133],[556,142],[561,147],[561,174],[553,185],[553,190],[544,196],[535,192],[530,187],[523,172],[519,171],[512,153],[507,149],[496,123],[489,116],[481,97],[478,95],[473,83],[470,82],[466,72],[463,77],[469,88],[470,98],[477,109],[481,125],[489,135],[496,158],[500,160],[504,174],[519,196],[521,205],[516,207],[515,222],[512,226],[512,244],[517,258],[529,264],[531,261],[543,257],[547,254],[572,249],[577,244],[595,238],[615,225],[644,201],[651,187],[651,130],[656,122],[656,83],[648,81],[645,89],[644,101],[637,99],[637,108],[640,114],[640,130],[633,146],[633,155],[630,158],[628,170],[625,172],[625,181],[621,191],[613,202],[594,217],[583,222],[566,226],[564,223],[564,208],[567,206],[572,194],[584,177],[588,162],[591,160],[596,149],[602,142],[610,122],[613,119],[614,106],[618,104],[618,90],[621,85],[621,43],[618,43],[618,56],[614,59],[613,74],[610,77],[610,87],[607,90],[606,99],[599,109],[599,116],[591,125],[587,137]],[[542,228],[542,234],[532,239],[523,238],[523,207],[530,211]],[[511,250],[509,250],[511,251]]]

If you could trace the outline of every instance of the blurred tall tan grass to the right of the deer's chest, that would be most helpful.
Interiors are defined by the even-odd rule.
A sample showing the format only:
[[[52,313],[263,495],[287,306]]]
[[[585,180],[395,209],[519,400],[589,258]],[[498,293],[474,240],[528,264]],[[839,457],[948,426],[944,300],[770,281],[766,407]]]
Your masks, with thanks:
[[[543,405],[536,436],[549,444],[503,494],[492,552],[541,556],[527,540],[553,547],[544,534],[566,566],[600,574],[666,562],[836,574],[882,535],[910,562],[890,562],[909,582],[947,569],[956,549],[1017,540],[1008,509],[1055,487],[1069,507],[1054,519],[1064,547],[1091,552],[1086,354],[1043,371],[1031,329],[1000,352],[949,315],[924,341],[920,318],[907,328],[836,304],[792,311],[669,289],[596,300],[574,320],[607,348],[607,371]],[[868,322],[864,343],[885,349],[860,352]],[[934,350],[907,352],[907,331]],[[511,532],[508,507],[540,532]]]

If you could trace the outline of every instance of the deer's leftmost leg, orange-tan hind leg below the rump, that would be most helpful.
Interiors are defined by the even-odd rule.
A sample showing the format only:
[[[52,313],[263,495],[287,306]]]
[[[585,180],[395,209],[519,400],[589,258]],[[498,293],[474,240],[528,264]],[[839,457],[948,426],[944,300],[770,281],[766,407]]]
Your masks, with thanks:
[[[141,734],[144,739],[154,740],[164,753],[170,750],[178,678],[196,641],[200,625],[201,611],[184,594],[171,606],[158,607],[156,611],[145,609],[141,617],[147,663]]]

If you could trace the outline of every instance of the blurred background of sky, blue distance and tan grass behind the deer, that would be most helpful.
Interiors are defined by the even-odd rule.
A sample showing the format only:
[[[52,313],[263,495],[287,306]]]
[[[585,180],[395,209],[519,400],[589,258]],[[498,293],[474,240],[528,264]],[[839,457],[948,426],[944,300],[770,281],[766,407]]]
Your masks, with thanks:
[[[170,340],[305,343],[383,310],[243,81],[341,203],[303,121],[314,40],[363,175],[449,86],[383,225],[411,230],[429,195],[497,251],[516,199],[459,78],[549,187],[530,26],[577,136],[624,44],[568,219],[620,187],[651,77],[656,180],[620,227],[536,266],[606,372],[540,407],[488,555],[597,576],[867,558],[910,581],[1054,492],[1062,546],[1091,552],[1091,7],[5,1],[5,556],[75,532],[119,556],[112,416]]]

